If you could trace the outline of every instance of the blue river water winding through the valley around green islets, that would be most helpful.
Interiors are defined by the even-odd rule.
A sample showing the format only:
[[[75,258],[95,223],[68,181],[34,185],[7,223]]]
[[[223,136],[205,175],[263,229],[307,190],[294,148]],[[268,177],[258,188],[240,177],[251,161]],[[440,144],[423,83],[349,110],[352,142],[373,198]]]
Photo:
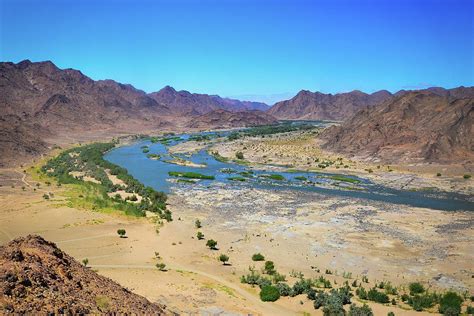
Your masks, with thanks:
[[[222,133],[221,133],[222,134]],[[213,132],[200,135],[215,136]],[[336,174],[323,172],[304,172],[285,167],[261,166],[249,167],[236,162],[221,162],[210,155],[207,150],[201,150],[191,155],[168,153],[168,147],[188,141],[190,135],[179,135],[179,140],[165,143],[150,140],[139,141],[130,145],[117,147],[105,154],[108,161],[124,167],[136,179],[155,190],[169,193],[174,186],[186,186],[190,190],[195,186],[209,186],[213,182],[223,182],[232,187],[255,187],[268,190],[303,190],[331,196],[354,197],[392,204],[424,207],[437,210],[474,211],[472,196],[441,191],[408,191],[397,190],[371,182],[368,179],[344,176],[354,181],[344,181]],[[144,146],[149,149],[143,153]],[[159,159],[150,159],[148,154],[158,154]],[[190,167],[170,163],[173,158],[192,161],[205,167]],[[197,172],[214,176],[214,180],[196,180],[196,183],[177,182],[178,179],[168,174],[170,171]],[[271,175],[281,175],[282,180],[272,179]],[[334,177],[334,178],[333,178]],[[232,180],[232,178],[234,180]],[[236,181],[236,179],[245,181]],[[209,192],[212,194],[212,191]]]

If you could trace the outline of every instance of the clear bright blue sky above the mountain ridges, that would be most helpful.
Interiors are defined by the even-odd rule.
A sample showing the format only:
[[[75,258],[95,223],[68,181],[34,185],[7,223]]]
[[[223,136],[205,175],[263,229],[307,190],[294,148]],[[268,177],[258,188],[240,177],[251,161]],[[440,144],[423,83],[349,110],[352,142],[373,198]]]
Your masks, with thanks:
[[[474,1],[0,0],[0,59],[273,102],[474,85]]]

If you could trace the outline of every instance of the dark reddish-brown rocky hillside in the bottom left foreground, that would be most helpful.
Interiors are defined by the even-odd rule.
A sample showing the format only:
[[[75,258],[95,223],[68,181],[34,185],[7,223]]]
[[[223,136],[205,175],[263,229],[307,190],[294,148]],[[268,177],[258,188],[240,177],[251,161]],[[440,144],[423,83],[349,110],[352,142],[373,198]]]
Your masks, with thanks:
[[[2,314],[172,314],[33,235],[0,247],[0,292]]]

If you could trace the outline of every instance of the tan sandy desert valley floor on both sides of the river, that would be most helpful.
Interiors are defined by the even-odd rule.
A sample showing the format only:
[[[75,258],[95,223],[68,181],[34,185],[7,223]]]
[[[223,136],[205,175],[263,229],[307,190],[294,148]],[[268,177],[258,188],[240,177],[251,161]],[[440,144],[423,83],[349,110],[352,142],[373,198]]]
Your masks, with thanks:
[[[317,169],[317,158],[335,157],[321,150],[311,133],[246,137],[215,142],[210,148],[229,158],[242,151],[245,160],[255,165]],[[190,141],[186,146],[171,147],[170,152],[195,152],[205,146],[209,143]],[[215,183],[192,189],[174,186],[167,202],[174,220],[162,223],[154,216],[134,218],[73,203],[72,197],[78,194],[74,188],[58,187],[54,180],[37,173],[45,161],[46,157],[34,165],[2,169],[0,242],[40,234],[78,261],[87,258],[91,269],[172,312],[322,314],[306,295],[262,302],[258,286],[242,284],[240,277],[249,267],[257,271],[263,267],[262,262],[252,261],[255,253],[272,260],[289,284],[302,273],[307,278],[324,276],[334,287],[345,281],[360,282],[366,276],[367,287],[390,281],[399,291],[414,281],[432,291],[450,289],[468,296],[474,289],[471,212]],[[462,166],[443,170],[443,176],[437,177],[431,170],[418,172],[416,166],[411,170],[385,165],[377,168],[365,162],[343,161],[349,166],[344,173],[363,174],[384,185],[473,192],[472,181],[461,176],[466,172]],[[374,171],[369,173],[369,168]],[[325,171],[342,170],[329,167]],[[44,194],[50,198],[45,199]],[[195,227],[196,219],[202,228]],[[119,238],[118,229],[125,229],[127,238]],[[198,240],[198,231],[205,240],[216,240],[218,250],[210,250],[205,240]],[[229,264],[218,261],[220,254],[230,257]],[[164,263],[166,271],[160,271],[157,263]],[[376,315],[436,312],[415,312],[400,300],[396,306],[362,301],[357,296],[352,301],[368,303]]]

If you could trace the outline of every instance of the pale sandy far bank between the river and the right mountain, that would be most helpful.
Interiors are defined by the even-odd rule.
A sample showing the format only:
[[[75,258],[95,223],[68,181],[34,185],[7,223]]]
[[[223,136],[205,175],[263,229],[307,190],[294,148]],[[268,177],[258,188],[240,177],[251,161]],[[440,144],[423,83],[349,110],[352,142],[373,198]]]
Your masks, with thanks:
[[[210,150],[227,159],[243,153],[250,165],[273,164],[305,171],[360,176],[394,189],[423,191],[436,189],[474,196],[471,165],[384,165],[347,159],[320,148],[313,133],[296,131],[265,137],[245,137],[215,143]]]

